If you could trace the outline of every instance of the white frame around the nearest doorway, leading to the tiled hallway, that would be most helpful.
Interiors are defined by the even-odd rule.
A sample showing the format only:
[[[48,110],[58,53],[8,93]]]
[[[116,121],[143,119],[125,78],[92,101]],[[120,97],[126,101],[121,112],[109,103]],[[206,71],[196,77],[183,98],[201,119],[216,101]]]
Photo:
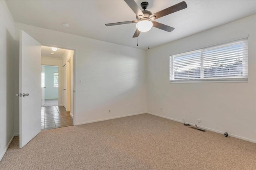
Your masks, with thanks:
[[[48,47],[57,47],[57,48],[60,48],[60,49],[68,49],[68,50],[73,50],[73,101],[71,100],[71,102],[73,102],[73,111],[70,111],[72,112],[73,114],[73,125],[76,125],[77,121],[76,121],[76,49],[75,48],[72,48],[72,47],[65,47],[65,46],[62,46],[62,45],[58,45],[58,44],[50,44],[50,43],[44,43],[44,42],[41,42],[41,45],[43,46],[48,46]],[[62,68],[62,65],[59,66],[59,69]],[[62,89],[62,87],[61,87]]]

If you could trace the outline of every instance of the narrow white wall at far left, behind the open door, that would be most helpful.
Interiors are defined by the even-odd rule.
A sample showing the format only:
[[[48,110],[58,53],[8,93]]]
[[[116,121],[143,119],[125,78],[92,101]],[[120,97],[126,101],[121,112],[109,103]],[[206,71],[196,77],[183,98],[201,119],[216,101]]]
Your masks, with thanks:
[[[14,135],[14,20],[0,1],[0,160]]]

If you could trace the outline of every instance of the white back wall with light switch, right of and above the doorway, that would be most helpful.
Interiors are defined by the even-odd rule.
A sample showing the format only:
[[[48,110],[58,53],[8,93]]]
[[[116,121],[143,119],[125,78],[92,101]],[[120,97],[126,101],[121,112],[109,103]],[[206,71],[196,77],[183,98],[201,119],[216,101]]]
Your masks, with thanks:
[[[75,50],[75,124],[146,111],[145,51],[22,23],[15,27],[16,40],[23,29],[42,45]]]

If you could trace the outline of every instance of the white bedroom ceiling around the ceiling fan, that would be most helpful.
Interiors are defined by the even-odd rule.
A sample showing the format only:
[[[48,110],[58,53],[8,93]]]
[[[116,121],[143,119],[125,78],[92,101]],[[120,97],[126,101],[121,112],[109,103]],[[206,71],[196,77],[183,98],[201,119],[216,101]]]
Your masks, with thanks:
[[[158,12],[182,0],[135,0],[147,10]],[[132,38],[136,24],[106,27],[105,23],[136,20],[136,15],[123,0],[6,0],[16,22],[89,37],[129,47],[157,47],[207,29],[256,14],[255,0],[185,0],[188,8],[156,21],[174,27],[168,33],[152,28]],[[63,27],[67,22],[70,27]],[[149,42],[149,43],[148,43]]]

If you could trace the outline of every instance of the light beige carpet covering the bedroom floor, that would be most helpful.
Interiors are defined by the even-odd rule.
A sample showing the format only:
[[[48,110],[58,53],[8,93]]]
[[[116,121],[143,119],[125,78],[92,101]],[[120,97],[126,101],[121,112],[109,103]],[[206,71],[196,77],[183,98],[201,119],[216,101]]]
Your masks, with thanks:
[[[256,144],[149,114],[15,137],[1,170],[256,170]]]

